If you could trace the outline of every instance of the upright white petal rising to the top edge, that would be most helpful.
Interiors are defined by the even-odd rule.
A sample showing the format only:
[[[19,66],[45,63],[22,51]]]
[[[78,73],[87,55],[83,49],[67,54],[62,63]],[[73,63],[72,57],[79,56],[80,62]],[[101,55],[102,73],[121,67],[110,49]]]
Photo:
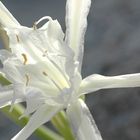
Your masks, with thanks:
[[[90,4],[91,0],[67,0],[66,5],[66,42],[75,52],[75,60],[80,62],[80,69]]]

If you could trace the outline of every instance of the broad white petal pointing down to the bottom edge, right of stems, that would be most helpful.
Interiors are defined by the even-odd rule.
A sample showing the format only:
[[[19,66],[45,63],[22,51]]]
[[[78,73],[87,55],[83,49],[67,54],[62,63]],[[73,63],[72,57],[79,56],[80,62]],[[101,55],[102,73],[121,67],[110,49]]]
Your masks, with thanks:
[[[88,107],[81,99],[68,107],[67,115],[77,140],[102,140]]]

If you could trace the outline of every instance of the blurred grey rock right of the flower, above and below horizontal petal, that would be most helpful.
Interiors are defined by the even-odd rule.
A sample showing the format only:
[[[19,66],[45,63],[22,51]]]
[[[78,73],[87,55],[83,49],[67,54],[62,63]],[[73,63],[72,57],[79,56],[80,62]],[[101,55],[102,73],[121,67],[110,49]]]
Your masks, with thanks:
[[[89,15],[83,75],[140,72],[140,1],[95,0]],[[140,88],[87,96],[104,140],[139,140]]]

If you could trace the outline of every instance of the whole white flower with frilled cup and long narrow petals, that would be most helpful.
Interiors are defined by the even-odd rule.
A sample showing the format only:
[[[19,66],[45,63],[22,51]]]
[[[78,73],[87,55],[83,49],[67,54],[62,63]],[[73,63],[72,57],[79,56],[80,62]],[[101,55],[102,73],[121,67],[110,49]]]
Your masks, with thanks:
[[[93,74],[82,80],[90,4],[91,0],[67,0],[64,35],[58,21],[50,17],[41,18],[32,28],[20,25],[0,2],[0,27],[8,36],[11,50],[0,51],[1,71],[12,83],[1,89],[0,106],[26,101],[23,116],[33,114],[12,140],[27,139],[64,108],[76,139],[101,140],[86,104],[79,97],[100,89],[140,86],[140,73],[113,77]],[[46,19],[48,22],[38,28]]]

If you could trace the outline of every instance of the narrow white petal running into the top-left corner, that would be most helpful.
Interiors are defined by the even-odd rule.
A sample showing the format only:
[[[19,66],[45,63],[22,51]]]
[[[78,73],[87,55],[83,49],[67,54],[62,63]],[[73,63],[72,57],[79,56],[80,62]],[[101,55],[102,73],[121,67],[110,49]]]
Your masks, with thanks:
[[[2,27],[17,27],[20,25],[8,9],[0,1],[0,26]]]

